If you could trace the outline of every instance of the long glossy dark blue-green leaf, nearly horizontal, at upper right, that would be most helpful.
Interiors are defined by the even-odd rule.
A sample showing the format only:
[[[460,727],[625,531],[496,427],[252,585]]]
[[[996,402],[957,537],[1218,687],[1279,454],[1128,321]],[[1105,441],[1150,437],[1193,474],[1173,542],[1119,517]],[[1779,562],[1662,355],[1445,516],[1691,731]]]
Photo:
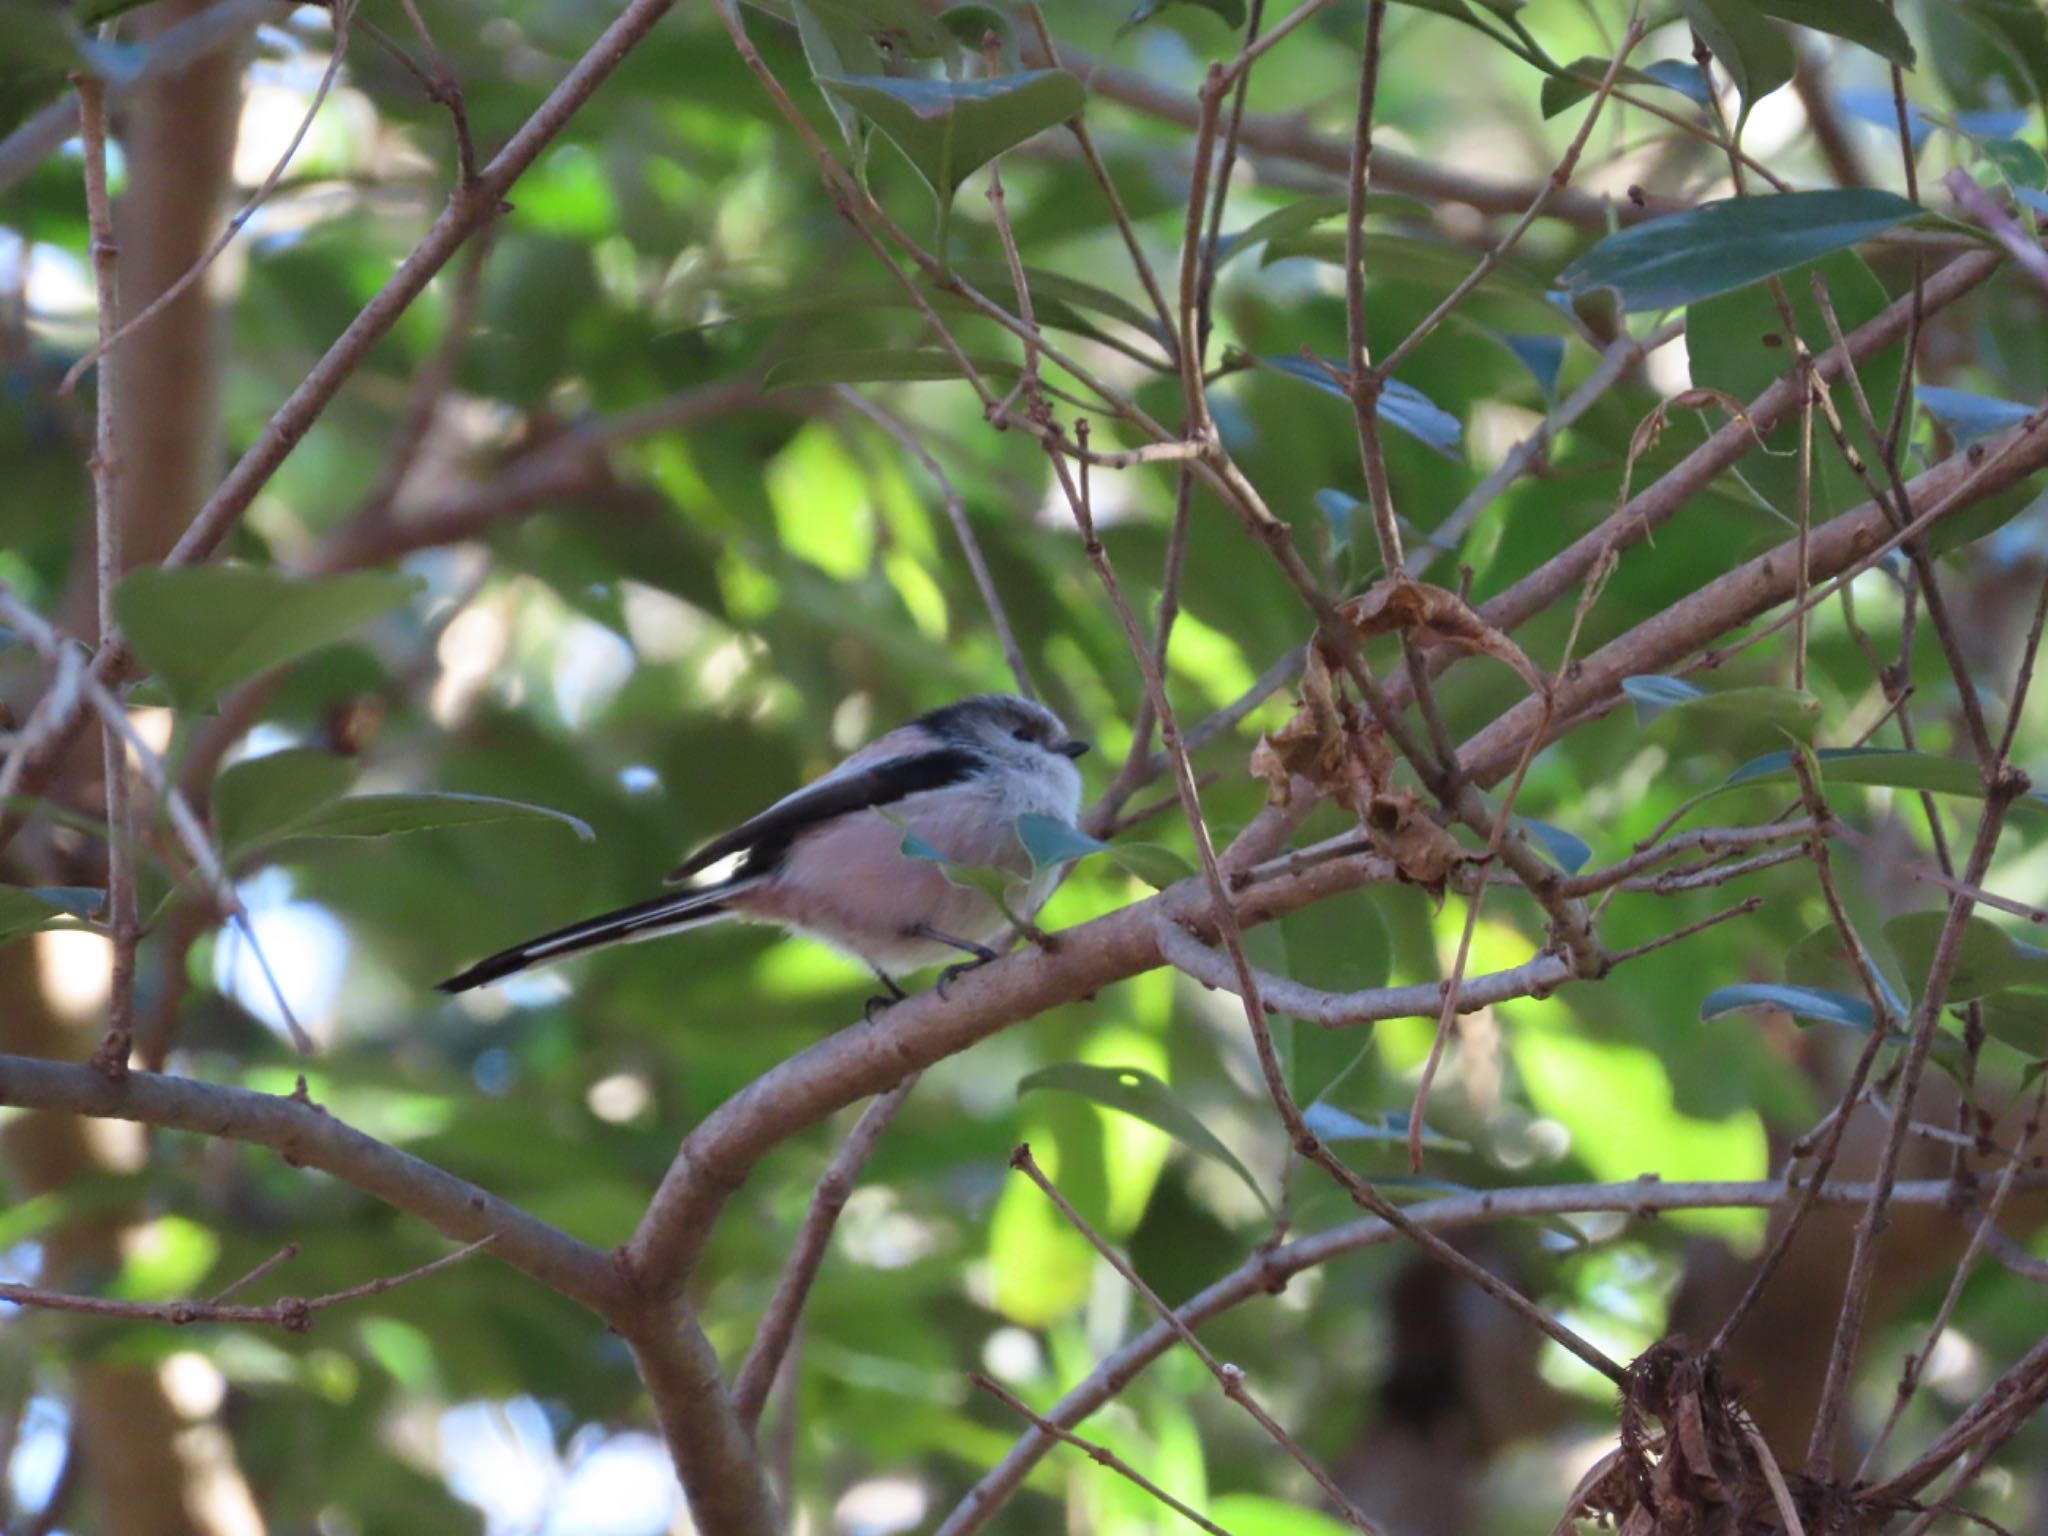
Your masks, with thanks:
[[[1868,186],[1731,197],[1612,233],[1559,281],[1571,293],[1616,289],[1624,309],[1671,309],[1870,240],[1919,211]]]

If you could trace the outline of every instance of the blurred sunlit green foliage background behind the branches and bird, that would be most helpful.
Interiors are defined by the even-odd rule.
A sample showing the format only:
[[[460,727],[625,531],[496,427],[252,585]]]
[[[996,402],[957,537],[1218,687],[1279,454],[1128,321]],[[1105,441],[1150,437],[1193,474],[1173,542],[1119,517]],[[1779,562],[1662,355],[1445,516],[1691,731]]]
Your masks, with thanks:
[[[0,16],[41,8],[14,0]],[[1499,209],[1536,188],[1583,113],[1546,119],[1542,74],[1446,14],[1456,8],[1397,4],[1386,20],[1378,121],[1399,190],[1374,195],[1368,223],[1376,338],[1405,334],[1470,268],[1503,227]],[[156,10],[125,20],[115,47],[139,45],[135,27],[147,33]],[[586,0],[424,0],[422,10],[485,150],[612,14]],[[1118,100],[1139,92],[1104,82],[1116,76],[1192,100],[1208,63],[1239,47],[1231,10],[1147,4],[1133,27],[1116,8],[1047,4],[1055,35],[1104,63],[1087,119],[1161,272],[1178,260],[1188,133],[1143,102]],[[406,35],[395,6],[367,0],[362,16]],[[2042,10],[2025,0],[1907,0],[1898,16],[1919,47],[1907,92],[1925,123],[1921,184],[1950,166],[1985,168],[1987,143],[2034,145],[2040,162]],[[1556,59],[1608,57],[1626,6],[1544,0],[1522,18]],[[1688,59],[1686,27],[1653,20],[1636,61]],[[838,143],[797,31],[760,10],[748,12],[748,27],[813,127]],[[1253,76],[1251,113],[1290,125],[1305,143],[1341,143],[1360,31],[1356,0],[1309,20]],[[1802,78],[1757,102],[1745,137],[1751,154],[1798,184],[1833,182],[1841,164],[1815,135],[1823,117],[1870,182],[1901,188],[1884,59],[1837,37],[1794,37]],[[225,92],[233,125],[227,205],[264,178],[332,49],[324,12],[281,12],[207,86]],[[1087,66],[1077,68],[1085,76]],[[45,104],[49,90],[37,80],[29,68],[10,76],[12,94],[0,98],[6,121]],[[1657,102],[1698,113],[1671,90]],[[176,150],[180,129],[141,109],[117,117],[121,195],[133,193],[139,154],[129,135],[141,133],[168,135]],[[133,410],[215,395],[217,414],[184,432],[205,434],[199,457],[205,473],[217,473],[412,248],[446,195],[451,166],[446,113],[383,49],[354,37],[276,195],[211,272],[190,371],[164,365],[143,377],[137,367]],[[868,174],[905,227],[930,227],[926,188],[881,141]],[[1313,156],[1249,152],[1237,178],[1225,229],[1341,190]],[[1456,178],[1509,190],[1483,211],[1460,197]],[[1106,289],[1143,319],[1143,291],[1073,139],[1032,139],[1006,158],[1004,180],[1030,266]],[[1579,186],[1616,205],[1626,205],[1630,186],[1698,201],[1726,193],[1726,166],[1667,121],[1614,102]],[[1001,252],[979,188],[981,178],[958,199],[950,240],[963,270],[989,274]],[[256,1087],[287,1090],[303,1067],[313,1096],[348,1122],[610,1245],[629,1235],[678,1135],[782,1057],[856,1020],[868,979],[809,944],[729,928],[612,950],[459,999],[438,997],[430,983],[528,932],[653,891],[682,850],[907,715],[1008,686],[1008,670],[926,469],[829,389],[770,387],[772,369],[791,358],[930,338],[834,213],[805,150],[709,6],[678,8],[662,23],[518,182],[512,205],[475,268],[469,340],[446,346],[451,315],[467,303],[457,262],[299,444],[229,551],[285,571],[403,569],[416,590],[252,692],[176,713],[145,698],[137,719],[182,764],[197,764],[201,793],[211,764],[313,748],[348,760],[354,793],[510,797],[582,817],[596,836],[582,842],[535,817],[244,850],[238,881],[258,940],[319,1055],[293,1057],[248,944],[174,895],[143,948],[139,1047],[176,1071]],[[1229,248],[1214,303],[1219,356],[1341,354],[1335,229]],[[1597,213],[1538,221],[1460,317],[1403,365],[1401,381],[1460,424],[1448,449],[1389,436],[1397,504],[1415,535],[1427,535],[1595,365],[1583,332],[1544,291],[1599,233]],[[125,246],[143,240],[145,231],[125,229]],[[1874,309],[1911,285],[1913,262],[1905,242],[1870,246],[1849,281],[1870,285]],[[989,287],[1001,293],[993,279]],[[76,145],[0,193],[0,578],[90,633],[90,383],[80,397],[55,391],[92,336]],[[1108,338],[1069,332],[1092,367],[1176,418],[1178,383],[1145,360],[1157,356],[1157,340],[1102,311],[1083,319]],[[969,350],[1014,356],[985,324],[961,317],[958,334]],[[2040,295],[1993,283],[1931,324],[1923,383],[2036,401],[2048,387],[2044,338]],[[436,381],[440,369],[444,387],[422,391],[420,381]],[[1636,424],[1686,383],[1683,342],[1657,352],[1563,434],[1542,473],[1485,510],[1440,580],[1454,582],[1464,563],[1475,598],[1485,598],[1595,526],[1614,506]],[[944,465],[1036,682],[1100,748],[1087,764],[1100,788],[1128,750],[1141,686],[1042,453],[1020,434],[989,430],[958,383],[881,383],[864,393]],[[422,399],[430,410],[418,420]],[[1335,584],[1362,586],[1370,569],[1354,561],[1343,516],[1364,496],[1346,403],[1282,371],[1233,369],[1214,389],[1214,410],[1231,453],[1292,522],[1298,545]],[[418,449],[393,487],[391,455],[416,430]],[[1675,414],[1634,467],[1634,483],[1675,463],[1702,430],[1694,414]],[[1919,455],[1942,455],[1956,432],[1923,414],[1913,442]],[[141,451],[131,459],[141,463]],[[131,481],[129,498],[152,489]],[[1149,604],[1174,471],[1098,473],[1096,498],[1118,573],[1133,600]],[[1737,477],[1696,498],[1624,559],[1591,612],[1587,647],[1782,541],[1782,512],[1763,506],[1769,498],[1767,485]],[[129,506],[131,522],[150,516]],[[2048,561],[2048,522],[2028,496],[2009,498],[2001,516],[2003,526],[1978,528],[1942,563],[1972,664],[1995,696]],[[1898,580],[1874,571],[1853,592],[1855,618],[1890,657],[1909,612]],[[1184,719],[1237,698],[1307,633],[1278,573],[1206,496],[1194,506],[1182,604],[1169,686]],[[1520,639],[1550,666],[1567,621],[1569,608],[1544,614]],[[1788,666],[1774,643],[1710,682],[1782,684]],[[0,653],[0,668],[25,711],[41,668],[20,647]],[[1911,670],[1919,743],[1948,752],[1954,690],[1925,625]],[[1855,739],[1882,711],[1880,684],[1839,604],[1815,614],[1808,686],[1823,702],[1823,743]],[[1446,678],[1442,698],[1452,731],[1466,735],[1522,692],[1505,668],[1470,664]],[[1288,709],[1282,688],[1202,754],[1219,834],[1262,803],[1245,754],[1255,729]],[[2044,760],[2042,737],[2036,711],[2019,733],[2021,762]],[[1896,733],[1878,741],[1896,743]],[[1698,713],[1642,723],[1616,711],[1536,760],[1522,809],[1608,862],[1686,797],[1780,743],[1763,725]],[[98,844],[76,825],[98,813],[94,772],[82,768],[51,791],[74,815],[43,807],[6,854],[10,883],[100,883]],[[1716,805],[1731,807],[1716,817],[1731,821],[1776,809],[1767,791]],[[1845,809],[1886,850],[1927,858],[1927,827],[1907,797],[1845,791]],[[1956,817],[1968,809],[1946,805]],[[1337,829],[1341,819],[1325,811],[1303,836]],[[1952,819],[1950,831],[1966,840],[1968,823]],[[1176,815],[1133,836],[1188,852]],[[1933,905],[1929,887],[1880,856],[1841,848],[1837,860],[1870,932]],[[2023,899],[2048,889],[2038,817],[2015,819],[1989,883]],[[145,872],[145,911],[166,893],[164,874]],[[1137,895],[1141,885],[1090,860],[1055,897],[1047,924],[1077,924]],[[1733,895],[1761,895],[1763,907],[1599,985],[1468,1020],[1432,1100],[1432,1128],[1454,1145],[1432,1153],[1430,1176],[1513,1186],[1638,1174],[1753,1180],[1774,1169],[1788,1139],[1833,1102],[1829,1085],[1860,1042],[1823,1026],[1802,1032],[1776,1014],[1702,1024],[1698,1001],[1712,987],[1784,973],[1790,942],[1825,922],[1810,872],[1794,862],[1735,893],[1622,895],[1606,938],[1651,940]],[[1325,987],[1427,981],[1444,973],[1460,924],[1456,899],[1438,911],[1421,891],[1374,889],[1255,934],[1255,958]],[[1540,911],[1495,891],[1473,969],[1516,965],[1540,942]],[[78,1057],[98,1038],[98,936],[16,938],[0,950],[0,1012],[12,1014],[0,1022],[6,1049]],[[43,1034],[31,1032],[31,1018],[47,1026]],[[1296,1087],[1305,1102],[1323,1098],[1382,1126],[1407,1110],[1427,1040],[1427,1020],[1313,1038],[1305,1028]],[[2023,1034],[1993,1040],[1987,1098],[2003,1102],[2038,1049]],[[1229,997],[1167,973],[1055,1010],[932,1069],[846,1210],[797,1346],[795,1386],[768,1409],[766,1436],[799,1530],[930,1528],[1020,1427],[965,1384],[969,1370],[987,1370],[1042,1407],[1143,1325],[1141,1305],[1114,1274],[1008,1171],[1018,1141],[1032,1143],[1069,1198],[1128,1247],[1169,1300],[1239,1264],[1268,1233],[1253,1194],[1219,1161],[1079,1098],[1018,1094],[1034,1069],[1069,1061],[1165,1079],[1266,1196],[1280,1198],[1286,1145],[1243,1020]],[[10,1135],[23,1126],[16,1116]],[[819,1133],[774,1153],[719,1227],[696,1305],[727,1360],[752,1335],[834,1145],[836,1135]],[[1343,1153],[1374,1174],[1403,1171],[1393,1137],[1358,1139]],[[47,1276],[63,1257],[70,1288],[211,1294],[297,1241],[299,1257],[266,1284],[313,1294],[442,1251],[420,1223],[348,1188],[190,1137],[109,1137],[80,1151],[61,1180],[39,1182],[37,1167],[33,1157],[18,1163],[16,1198],[0,1212],[0,1264],[14,1278]],[[1298,1169],[1288,1190],[1298,1231],[1346,1219],[1341,1198]],[[104,1241],[66,1237],[96,1227]],[[1817,1391],[1845,1233],[1825,1227],[1794,1255],[1782,1294],[1751,1323],[1741,1352],[1737,1374],[1788,1458]],[[1475,1251],[1628,1358],[1673,1327],[1710,1331],[1733,1294],[1729,1276],[1739,1284],[1741,1260],[1761,1237],[1761,1212],[1587,1217],[1507,1225],[1477,1237]],[[1888,1407],[1896,1362],[1917,1348],[1960,1241],[1946,1219],[1901,1212],[1888,1249],[1898,1262],[1886,1268],[1853,1399],[1858,1434]],[[1921,1444],[2023,1352],[2038,1317],[2038,1284],[1997,1266],[1976,1274],[1894,1454]],[[1538,1350],[1397,1247],[1331,1264],[1227,1315],[1208,1343],[1253,1374],[1276,1413],[1389,1530],[1546,1530],[1612,1436],[1606,1382]],[[170,1501],[123,1499],[117,1483],[78,1473],[82,1427],[109,1427],[104,1411],[90,1419],[80,1407],[96,1370],[119,1370],[129,1384],[119,1401],[133,1417],[113,1419],[121,1434],[137,1444],[160,1436],[174,1448],[182,1483],[168,1489]],[[135,1382],[152,1384],[162,1415],[143,1413]],[[1335,1530],[1313,1513],[1298,1468],[1184,1356],[1139,1378],[1085,1432],[1239,1536]],[[2042,1464],[2038,1427],[2021,1446],[2009,1458],[2017,1470],[1987,1485],[1987,1511],[2011,1530],[2048,1518],[2048,1491],[2038,1470],[2025,1470]],[[489,1260],[330,1313],[303,1337],[10,1315],[0,1329],[0,1448],[10,1507],[29,1520],[57,1491],[55,1526],[72,1532],[688,1530],[623,1346]],[[1061,1452],[995,1528],[1135,1536],[1171,1520]]]

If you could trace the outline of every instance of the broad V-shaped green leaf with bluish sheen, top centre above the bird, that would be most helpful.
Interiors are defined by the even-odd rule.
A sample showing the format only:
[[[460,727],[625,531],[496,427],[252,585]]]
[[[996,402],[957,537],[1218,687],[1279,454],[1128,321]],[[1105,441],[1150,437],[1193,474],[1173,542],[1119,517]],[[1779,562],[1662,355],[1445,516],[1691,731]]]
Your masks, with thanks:
[[[940,203],[1004,150],[1077,117],[1087,90],[1065,70],[995,80],[819,76],[817,84],[874,123]]]

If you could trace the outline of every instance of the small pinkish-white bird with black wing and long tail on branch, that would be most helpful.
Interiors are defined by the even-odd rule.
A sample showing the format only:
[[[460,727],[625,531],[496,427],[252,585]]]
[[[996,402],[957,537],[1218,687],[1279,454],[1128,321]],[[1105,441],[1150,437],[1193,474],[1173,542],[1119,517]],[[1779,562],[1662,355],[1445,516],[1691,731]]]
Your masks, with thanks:
[[[723,918],[780,924],[866,961],[889,989],[870,1012],[903,997],[895,975],[950,954],[973,956],[948,967],[940,977],[944,987],[961,971],[995,958],[987,940],[1004,930],[1006,918],[981,891],[948,881],[938,864],[905,856],[905,831],[956,864],[1026,879],[1018,909],[1028,915],[1053,893],[1055,870],[1032,872],[1018,842],[1018,817],[1047,815],[1071,825],[1081,809],[1073,760],[1083,752],[1087,743],[1030,698],[975,694],[934,709],[713,838],[668,879],[688,881],[731,860],[727,872],[530,938],[449,977],[440,991],[469,991],[569,954]]]

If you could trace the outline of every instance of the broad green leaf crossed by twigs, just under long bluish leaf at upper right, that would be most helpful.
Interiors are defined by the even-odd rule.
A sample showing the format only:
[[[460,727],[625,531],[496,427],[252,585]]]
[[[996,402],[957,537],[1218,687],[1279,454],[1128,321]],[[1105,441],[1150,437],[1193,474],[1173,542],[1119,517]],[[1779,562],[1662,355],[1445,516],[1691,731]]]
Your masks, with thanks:
[[[1788,270],[1782,287],[1792,307],[1792,322],[1808,352],[1825,352],[1831,344],[1827,322],[1812,291],[1815,276],[1827,285],[1829,303],[1835,307],[1835,317],[1841,322],[1843,332],[1853,332],[1864,322],[1874,319],[1890,303],[1884,285],[1853,250],[1837,250],[1817,262]],[[1778,309],[1778,299],[1761,285],[1722,293],[1692,305],[1686,311],[1686,350],[1692,362],[1692,381],[1708,389],[1722,389],[1737,399],[1755,399],[1798,362],[1792,340],[1784,330],[1786,324]],[[1898,397],[1901,360],[1903,344],[1894,342],[1858,365],[1858,377],[1864,383],[1864,393],[1870,397],[1870,414],[1878,422],[1888,422],[1892,416],[1892,401]],[[1866,465],[1882,463],[1878,444],[1864,428],[1855,393],[1847,385],[1841,385],[1835,399],[1849,444]],[[1763,436],[1765,453],[1751,455],[1743,465],[1743,483],[1788,520],[1798,518],[1798,434],[1800,424],[1792,416]],[[1815,420],[1810,496],[1815,522],[1860,506],[1868,498],[1870,492],[1864,485],[1864,477],[1849,467],[1827,422]]]

